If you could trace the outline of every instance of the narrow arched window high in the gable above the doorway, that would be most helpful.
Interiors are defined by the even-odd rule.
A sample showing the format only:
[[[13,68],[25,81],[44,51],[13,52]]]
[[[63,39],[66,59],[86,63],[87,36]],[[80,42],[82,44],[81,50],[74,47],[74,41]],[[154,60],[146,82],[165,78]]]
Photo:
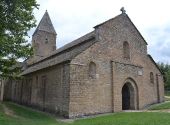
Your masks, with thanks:
[[[123,43],[123,56],[125,59],[130,59],[129,43],[127,41]]]

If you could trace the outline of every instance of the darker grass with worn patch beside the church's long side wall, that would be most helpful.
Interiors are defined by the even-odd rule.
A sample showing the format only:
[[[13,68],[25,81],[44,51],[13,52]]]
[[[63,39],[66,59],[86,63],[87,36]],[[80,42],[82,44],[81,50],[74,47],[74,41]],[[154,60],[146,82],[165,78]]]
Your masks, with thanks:
[[[12,111],[5,113],[4,105]],[[0,125],[58,125],[54,117],[30,108],[5,102],[0,104]]]

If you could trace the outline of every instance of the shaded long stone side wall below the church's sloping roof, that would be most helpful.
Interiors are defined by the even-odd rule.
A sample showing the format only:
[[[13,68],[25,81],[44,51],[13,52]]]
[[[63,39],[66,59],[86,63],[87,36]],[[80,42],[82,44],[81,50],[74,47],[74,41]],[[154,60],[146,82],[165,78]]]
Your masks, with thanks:
[[[68,116],[69,64],[62,63],[6,84],[5,99]]]

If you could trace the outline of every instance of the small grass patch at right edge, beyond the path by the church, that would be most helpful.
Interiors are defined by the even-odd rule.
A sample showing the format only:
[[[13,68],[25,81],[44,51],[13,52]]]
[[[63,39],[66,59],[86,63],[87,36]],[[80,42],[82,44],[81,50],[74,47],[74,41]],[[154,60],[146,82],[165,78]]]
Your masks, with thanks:
[[[162,110],[162,109],[170,109],[170,102],[156,104],[149,108],[149,110]]]

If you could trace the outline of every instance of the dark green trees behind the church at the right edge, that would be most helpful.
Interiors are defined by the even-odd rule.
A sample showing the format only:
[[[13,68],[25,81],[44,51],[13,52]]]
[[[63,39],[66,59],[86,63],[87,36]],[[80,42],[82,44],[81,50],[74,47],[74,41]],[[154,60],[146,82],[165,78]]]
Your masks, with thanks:
[[[165,89],[170,90],[170,65],[165,63],[158,63],[157,65],[163,73]]]

